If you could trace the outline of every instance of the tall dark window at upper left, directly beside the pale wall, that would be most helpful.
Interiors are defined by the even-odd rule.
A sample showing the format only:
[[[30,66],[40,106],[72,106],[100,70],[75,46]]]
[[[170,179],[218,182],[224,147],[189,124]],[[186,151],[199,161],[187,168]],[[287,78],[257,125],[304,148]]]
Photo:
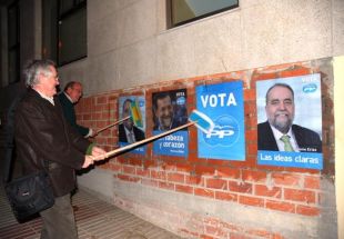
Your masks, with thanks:
[[[87,1],[60,0],[58,64],[87,57]]]

